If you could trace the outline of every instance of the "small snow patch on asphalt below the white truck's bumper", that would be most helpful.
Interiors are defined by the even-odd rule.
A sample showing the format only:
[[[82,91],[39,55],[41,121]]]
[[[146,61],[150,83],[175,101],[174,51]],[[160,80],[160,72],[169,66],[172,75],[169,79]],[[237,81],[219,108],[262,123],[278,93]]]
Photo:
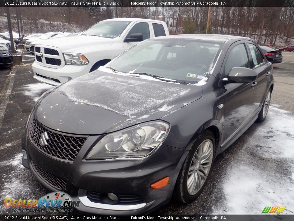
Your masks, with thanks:
[[[22,90],[22,93],[26,96],[32,98],[34,102],[36,102],[40,95],[42,95],[45,91],[51,89],[54,86],[51,86],[46,83],[31,83],[21,86],[19,89]]]

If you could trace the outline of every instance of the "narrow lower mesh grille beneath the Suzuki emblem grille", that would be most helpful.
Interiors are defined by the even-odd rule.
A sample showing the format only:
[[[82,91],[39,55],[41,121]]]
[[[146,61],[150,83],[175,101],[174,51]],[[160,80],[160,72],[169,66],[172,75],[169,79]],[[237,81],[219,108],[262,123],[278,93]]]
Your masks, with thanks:
[[[59,178],[47,171],[43,170],[40,166],[38,166],[32,159],[31,159],[32,167],[34,171],[47,183],[49,183],[52,187],[58,190],[64,190],[66,186],[66,180]]]

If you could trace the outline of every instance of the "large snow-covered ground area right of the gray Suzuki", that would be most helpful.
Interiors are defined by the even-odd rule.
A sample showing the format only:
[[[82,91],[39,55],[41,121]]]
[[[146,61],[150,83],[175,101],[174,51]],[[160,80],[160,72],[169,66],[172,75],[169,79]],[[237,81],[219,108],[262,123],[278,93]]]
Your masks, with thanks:
[[[245,157],[228,165],[221,184],[225,200],[213,213],[260,214],[265,206],[285,206],[283,214],[294,214],[293,144],[294,116],[272,105],[244,143]]]

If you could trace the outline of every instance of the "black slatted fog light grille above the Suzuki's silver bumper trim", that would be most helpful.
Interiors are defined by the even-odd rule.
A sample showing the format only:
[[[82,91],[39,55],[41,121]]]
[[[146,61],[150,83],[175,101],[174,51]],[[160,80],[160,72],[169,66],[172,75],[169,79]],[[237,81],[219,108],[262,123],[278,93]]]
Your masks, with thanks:
[[[145,201],[138,195],[135,194],[119,194],[117,195],[118,200],[111,202],[111,200],[105,200],[107,193],[87,191],[87,197],[94,203],[102,204],[114,204],[114,205],[136,205],[145,203]],[[110,202],[110,203],[107,203]]]

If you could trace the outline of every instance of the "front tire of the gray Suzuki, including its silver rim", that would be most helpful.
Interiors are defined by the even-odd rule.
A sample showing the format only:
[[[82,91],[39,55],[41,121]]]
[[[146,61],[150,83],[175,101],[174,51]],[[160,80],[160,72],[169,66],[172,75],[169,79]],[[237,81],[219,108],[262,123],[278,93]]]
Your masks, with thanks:
[[[199,158],[196,159],[198,156],[196,153],[200,153],[199,151],[201,151],[201,147],[202,154],[200,155],[203,157],[202,163],[201,161],[198,161]],[[204,153],[203,150],[205,151]],[[208,156],[206,159],[205,155]],[[174,196],[176,200],[187,204],[195,200],[201,194],[207,178],[209,177],[213,165],[214,155],[215,139],[213,133],[208,130],[204,131],[203,134],[197,138],[194,145],[190,149],[180,170],[174,189]],[[203,165],[205,165],[205,167],[203,167]],[[200,183],[197,182],[197,180],[200,180]]]

